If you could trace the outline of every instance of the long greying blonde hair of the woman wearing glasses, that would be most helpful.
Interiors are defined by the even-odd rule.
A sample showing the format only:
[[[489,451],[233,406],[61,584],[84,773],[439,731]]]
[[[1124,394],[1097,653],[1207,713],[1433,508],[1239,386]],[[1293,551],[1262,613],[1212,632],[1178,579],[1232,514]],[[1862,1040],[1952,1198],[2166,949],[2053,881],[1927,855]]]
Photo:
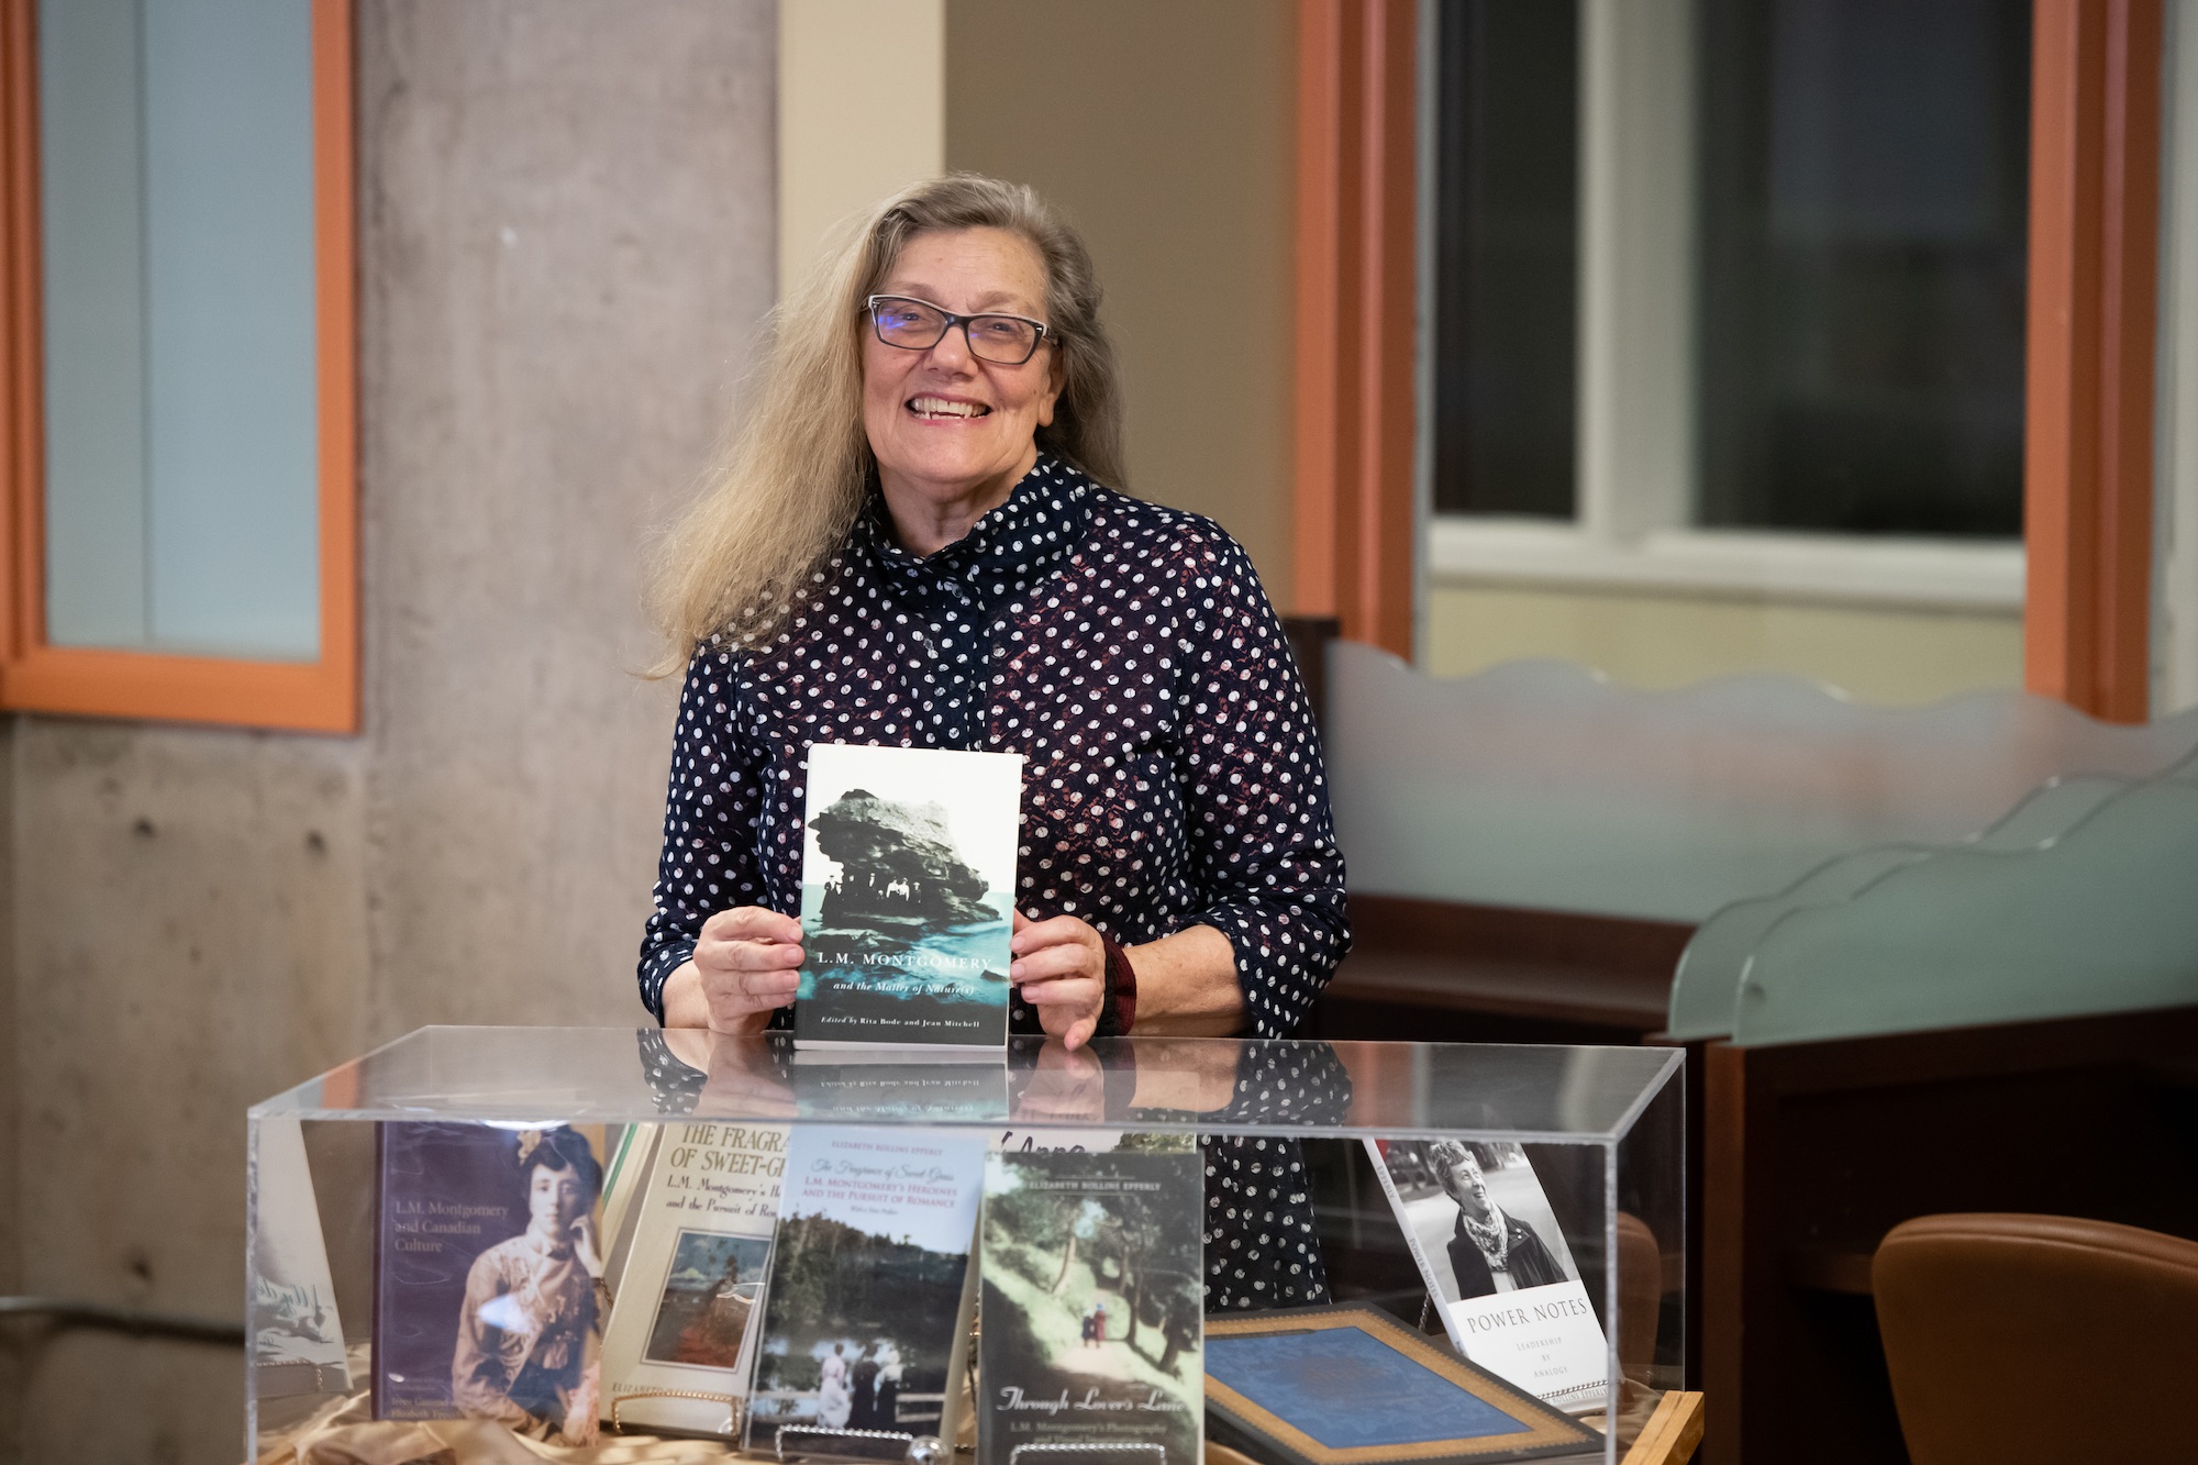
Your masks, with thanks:
[[[681,669],[712,636],[745,647],[776,636],[846,539],[877,466],[862,429],[864,301],[910,240],[958,229],[1004,229],[1037,251],[1062,378],[1037,447],[1123,486],[1121,378],[1084,240],[1020,183],[952,174],[908,187],[771,315],[756,405],[657,557],[651,609],[666,638],[657,675]]]

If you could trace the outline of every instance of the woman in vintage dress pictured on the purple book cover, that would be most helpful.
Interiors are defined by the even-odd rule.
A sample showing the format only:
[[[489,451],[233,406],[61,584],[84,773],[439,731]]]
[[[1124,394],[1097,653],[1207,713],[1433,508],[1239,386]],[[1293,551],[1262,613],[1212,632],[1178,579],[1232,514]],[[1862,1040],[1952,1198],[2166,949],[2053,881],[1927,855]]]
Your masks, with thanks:
[[[587,1139],[545,1131],[519,1157],[528,1230],[473,1260],[451,1357],[451,1401],[528,1434],[596,1439],[600,1348],[596,1192],[602,1168]]]

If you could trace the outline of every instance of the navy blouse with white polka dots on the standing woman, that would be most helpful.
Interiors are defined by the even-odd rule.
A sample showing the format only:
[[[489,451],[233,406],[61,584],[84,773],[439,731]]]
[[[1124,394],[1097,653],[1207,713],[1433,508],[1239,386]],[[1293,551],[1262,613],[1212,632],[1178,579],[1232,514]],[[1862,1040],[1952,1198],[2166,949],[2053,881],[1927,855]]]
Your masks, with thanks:
[[[800,911],[820,741],[1024,754],[1015,906],[1123,946],[1213,926],[1235,950],[1248,1036],[1290,1036],[1350,948],[1312,708],[1251,559],[1211,519],[1040,455],[969,535],[917,557],[873,495],[776,640],[697,649],[642,937],[659,1023],[664,981],[712,913]],[[1009,1025],[1040,1032],[1020,999]],[[1222,1210],[1286,1208],[1297,1252],[1310,1201],[1292,1161],[1255,1170],[1264,1192]],[[1325,1280],[1251,1280],[1262,1307],[1325,1296]],[[1231,1300],[1209,1289],[1209,1307]]]

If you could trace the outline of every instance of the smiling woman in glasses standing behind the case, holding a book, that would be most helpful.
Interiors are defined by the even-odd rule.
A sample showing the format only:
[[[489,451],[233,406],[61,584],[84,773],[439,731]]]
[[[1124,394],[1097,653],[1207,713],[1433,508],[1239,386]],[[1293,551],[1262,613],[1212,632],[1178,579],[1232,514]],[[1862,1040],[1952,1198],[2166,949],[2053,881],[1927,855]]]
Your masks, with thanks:
[[[1110,486],[1097,308],[1046,205],[956,176],[780,315],[659,585],[686,664],[640,961],[662,1023],[785,1025],[815,741],[1024,754],[1018,1032],[1288,1036],[1343,957],[1297,667],[1226,532]],[[1209,1148],[1209,1304],[1323,1300],[1295,1148]]]

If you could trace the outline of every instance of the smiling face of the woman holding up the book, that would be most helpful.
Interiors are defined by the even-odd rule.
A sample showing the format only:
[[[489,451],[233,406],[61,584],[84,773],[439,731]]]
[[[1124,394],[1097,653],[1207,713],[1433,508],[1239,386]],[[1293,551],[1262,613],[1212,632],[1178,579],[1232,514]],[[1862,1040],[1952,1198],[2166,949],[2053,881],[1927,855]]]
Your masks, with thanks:
[[[1004,229],[919,233],[877,293],[912,295],[954,315],[1046,319],[1044,264]],[[862,425],[890,497],[1004,497],[1037,462],[1035,436],[1053,422],[1059,396],[1051,343],[1022,365],[998,365],[969,354],[961,326],[928,352],[886,345],[868,323],[862,341]]]

